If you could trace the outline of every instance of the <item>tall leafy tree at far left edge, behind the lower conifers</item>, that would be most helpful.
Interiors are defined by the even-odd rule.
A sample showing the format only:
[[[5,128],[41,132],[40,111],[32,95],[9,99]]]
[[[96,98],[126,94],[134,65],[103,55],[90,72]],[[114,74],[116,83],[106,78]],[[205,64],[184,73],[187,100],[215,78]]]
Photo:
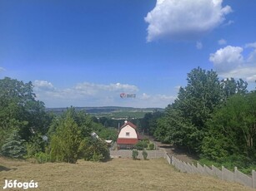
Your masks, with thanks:
[[[51,118],[46,114],[43,102],[35,98],[31,81],[24,83],[8,77],[0,80],[0,135],[10,133],[13,125],[26,141],[34,133],[47,131]]]

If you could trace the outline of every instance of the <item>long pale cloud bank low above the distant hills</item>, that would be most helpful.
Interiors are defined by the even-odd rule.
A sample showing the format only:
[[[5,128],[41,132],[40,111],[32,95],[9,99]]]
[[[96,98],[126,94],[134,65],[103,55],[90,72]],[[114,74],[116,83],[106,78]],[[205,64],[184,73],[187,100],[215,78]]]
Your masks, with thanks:
[[[73,106],[131,106],[131,107],[166,107],[175,100],[174,96],[148,95],[140,93],[138,86],[110,83],[78,83],[69,88],[58,89],[48,81],[34,81],[33,91],[38,100],[47,107]],[[136,94],[135,98],[122,99],[121,93]]]

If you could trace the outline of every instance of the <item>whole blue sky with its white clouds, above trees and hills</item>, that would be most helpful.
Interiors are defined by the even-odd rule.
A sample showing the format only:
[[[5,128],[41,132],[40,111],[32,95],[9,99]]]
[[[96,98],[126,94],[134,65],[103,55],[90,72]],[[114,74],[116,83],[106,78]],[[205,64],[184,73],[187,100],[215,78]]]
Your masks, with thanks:
[[[198,66],[254,88],[255,8],[254,0],[1,0],[0,78],[32,81],[47,107],[164,108]]]

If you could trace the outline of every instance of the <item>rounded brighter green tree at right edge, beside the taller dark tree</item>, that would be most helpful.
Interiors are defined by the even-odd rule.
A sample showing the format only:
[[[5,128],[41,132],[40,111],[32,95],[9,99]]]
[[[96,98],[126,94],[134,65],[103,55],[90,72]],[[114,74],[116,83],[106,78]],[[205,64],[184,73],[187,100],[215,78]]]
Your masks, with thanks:
[[[220,159],[228,155],[256,157],[256,93],[235,95],[213,113],[203,139],[203,155]],[[221,151],[219,151],[221,150]]]

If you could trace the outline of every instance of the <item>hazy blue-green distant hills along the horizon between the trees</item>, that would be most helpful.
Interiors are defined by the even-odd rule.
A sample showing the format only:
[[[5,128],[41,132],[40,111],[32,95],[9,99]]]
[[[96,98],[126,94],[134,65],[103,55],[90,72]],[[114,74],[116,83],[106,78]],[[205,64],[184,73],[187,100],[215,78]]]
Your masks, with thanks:
[[[53,112],[56,115],[61,115],[67,108],[47,108],[48,112]],[[109,117],[112,119],[138,119],[143,118],[146,113],[160,111],[163,108],[134,108],[134,107],[118,107],[118,106],[103,106],[103,107],[75,107],[75,110],[84,110],[90,115],[96,117]]]

